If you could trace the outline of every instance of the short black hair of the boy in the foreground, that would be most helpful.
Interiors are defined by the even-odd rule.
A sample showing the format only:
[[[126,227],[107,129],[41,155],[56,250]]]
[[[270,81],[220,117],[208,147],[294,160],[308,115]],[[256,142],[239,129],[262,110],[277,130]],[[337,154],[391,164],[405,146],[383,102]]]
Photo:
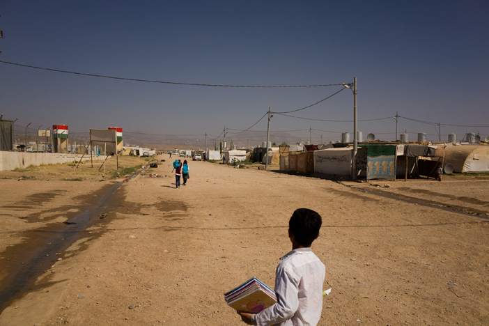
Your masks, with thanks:
[[[299,208],[290,217],[288,228],[297,243],[304,247],[311,247],[312,242],[318,238],[321,224],[323,220],[317,212],[308,208]]]

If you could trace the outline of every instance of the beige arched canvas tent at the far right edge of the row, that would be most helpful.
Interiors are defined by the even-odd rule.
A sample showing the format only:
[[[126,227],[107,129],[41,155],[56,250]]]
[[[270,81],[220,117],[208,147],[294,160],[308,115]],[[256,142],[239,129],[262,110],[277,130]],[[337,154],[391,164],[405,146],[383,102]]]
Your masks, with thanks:
[[[454,172],[489,172],[489,146],[460,145],[445,147],[443,166],[453,165]]]

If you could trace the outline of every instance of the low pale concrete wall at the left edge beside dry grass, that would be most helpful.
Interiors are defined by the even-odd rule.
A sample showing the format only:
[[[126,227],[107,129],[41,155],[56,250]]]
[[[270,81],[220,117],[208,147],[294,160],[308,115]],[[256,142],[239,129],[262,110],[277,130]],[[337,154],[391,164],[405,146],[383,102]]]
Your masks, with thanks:
[[[75,155],[77,161],[81,155]],[[85,155],[84,161],[90,160]],[[29,165],[58,164],[73,162],[72,154],[61,153],[25,153],[25,152],[4,152],[0,151],[0,171],[12,171],[15,169],[25,169]]]

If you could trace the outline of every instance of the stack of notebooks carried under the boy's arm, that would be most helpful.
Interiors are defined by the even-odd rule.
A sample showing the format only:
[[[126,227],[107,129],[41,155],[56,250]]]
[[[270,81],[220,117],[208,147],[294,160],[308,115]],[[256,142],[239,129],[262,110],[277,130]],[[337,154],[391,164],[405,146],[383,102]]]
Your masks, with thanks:
[[[232,308],[247,313],[258,313],[277,303],[274,290],[256,277],[224,293],[224,300]]]

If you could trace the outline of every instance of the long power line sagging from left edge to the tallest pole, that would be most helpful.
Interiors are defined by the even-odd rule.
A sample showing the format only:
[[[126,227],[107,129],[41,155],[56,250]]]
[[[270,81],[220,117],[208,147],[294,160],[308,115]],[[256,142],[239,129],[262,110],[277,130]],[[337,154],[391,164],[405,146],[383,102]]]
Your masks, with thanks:
[[[0,60],[0,62],[1,63],[8,63],[9,65],[19,65],[21,67],[26,67],[26,68],[34,68],[34,69],[40,69],[40,70],[49,70],[49,71],[54,71],[54,72],[64,72],[66,74],[72,74],[72,75],[82,75],[82,76],[89,76],[89,77],[100,77],[100,78],[119,79],[119,80],[128,80],[128,81],[143,81],[143,82],[146,82],[146,83],[185,85],[185,86],[247,87],[247,88],[286,88],[286,87],[325,87],[325,86],[339,86],[339,85],[342,85],[342,84],[320,84],[320,85],[288,85],[288,86],[254,86],[254,85],[220,85],[220,84],[178,83],[176,81],[160,81],[160,80],[149,80],[149,79],[114,77],[114,76],[98,75],[98,74],[87,74],[87,73],[84,73],[84,72],[75,72],[75,71],[60,70],[60,69],[53,69],[53,68],[42,68],[42,67],[36,67],[35,65],[24,65],[22,63],[13,63],[13,62],[2,61],[2,60]]]

